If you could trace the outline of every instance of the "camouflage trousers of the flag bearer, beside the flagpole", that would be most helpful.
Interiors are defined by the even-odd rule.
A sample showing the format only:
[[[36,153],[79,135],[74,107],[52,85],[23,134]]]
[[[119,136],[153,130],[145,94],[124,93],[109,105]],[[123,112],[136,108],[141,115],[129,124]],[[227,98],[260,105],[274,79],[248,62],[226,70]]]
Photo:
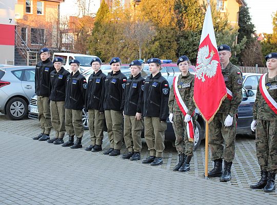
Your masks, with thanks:
[[[230,127],[225,127],[224,121],[228,114],[216,113],[209,124],[209,147],[211,160],[222,159],[232,162],[235,154],[236,118]]]

